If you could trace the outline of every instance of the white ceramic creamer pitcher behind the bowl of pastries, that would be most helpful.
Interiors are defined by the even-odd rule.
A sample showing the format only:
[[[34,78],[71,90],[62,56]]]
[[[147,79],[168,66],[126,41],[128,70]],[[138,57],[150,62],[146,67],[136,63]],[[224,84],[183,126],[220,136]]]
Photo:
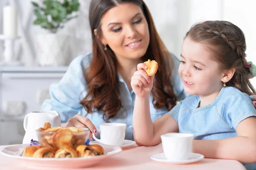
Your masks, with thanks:
[[[23,121],[23,127],[26,131],[22,144],[30,144],[31,139],[38,141],[35,130],[44,127],[44,123],[49,122],[52,127],[61,126],[61,118],[56,111],[35,111],[28,113]]]

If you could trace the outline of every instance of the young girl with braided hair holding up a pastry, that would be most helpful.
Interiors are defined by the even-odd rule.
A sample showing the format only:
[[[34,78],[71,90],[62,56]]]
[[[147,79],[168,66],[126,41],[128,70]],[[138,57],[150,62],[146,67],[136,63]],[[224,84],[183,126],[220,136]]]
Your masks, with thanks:
[[[131,78],[136,94],[133,131],[140,145],[153,146],[165,133],[192,133],[193,152],[206,158],[235,159],[256,169],[256,110],[249,95],[250,66],[245,38],[227,21],[198,23],[183,41],[179,75],[189,94],[166,115],[152,122],[149,95],[154,76],[145,64]]]

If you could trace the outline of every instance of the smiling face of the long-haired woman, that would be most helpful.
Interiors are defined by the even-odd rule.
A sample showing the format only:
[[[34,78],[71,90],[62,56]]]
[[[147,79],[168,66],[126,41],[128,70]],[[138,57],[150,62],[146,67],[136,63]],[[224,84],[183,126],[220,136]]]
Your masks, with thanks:
[[[148,23],[140,6],[123,3],[109,9],[101,20],[101,42],[117,58],[142,57],[149,44]]]

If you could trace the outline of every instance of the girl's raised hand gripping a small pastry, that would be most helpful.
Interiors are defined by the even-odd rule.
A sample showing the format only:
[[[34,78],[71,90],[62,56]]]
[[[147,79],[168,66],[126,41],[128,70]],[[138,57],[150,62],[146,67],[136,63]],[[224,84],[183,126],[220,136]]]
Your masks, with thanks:
[[[144,70],[147,68],[147,65],[144,63],[138,64],[138,71],[134,72],[134,75],[131,77],[131,87],[139,98],[148,97],[153,86],[154,75],[149,77]]]

